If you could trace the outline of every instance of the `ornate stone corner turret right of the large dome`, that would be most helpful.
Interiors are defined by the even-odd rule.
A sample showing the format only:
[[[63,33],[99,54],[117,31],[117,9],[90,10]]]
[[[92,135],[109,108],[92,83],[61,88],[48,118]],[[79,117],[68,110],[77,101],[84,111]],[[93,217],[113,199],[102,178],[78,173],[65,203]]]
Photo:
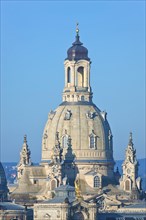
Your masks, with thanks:
[[[122,164],[123,176],[120,179],[120,186],[124,191],[132,193],[134,197],[135,193],[141,190],[141,178],[138,177],[139,164],[133,146],[132,133],[130,133],[125,160]]]

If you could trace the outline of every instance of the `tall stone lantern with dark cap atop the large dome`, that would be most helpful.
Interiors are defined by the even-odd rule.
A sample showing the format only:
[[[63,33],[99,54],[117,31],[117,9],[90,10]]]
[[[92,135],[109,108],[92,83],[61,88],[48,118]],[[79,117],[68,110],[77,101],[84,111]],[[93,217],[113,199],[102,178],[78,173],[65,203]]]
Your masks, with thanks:
[[[90,87],[90,58],[88,50],[82,46],[79,40],[78,24],[76,27],[76,41],[67,51],[65,59],[65,87],[63,90],[63,102],[92,102],[92,90]]]

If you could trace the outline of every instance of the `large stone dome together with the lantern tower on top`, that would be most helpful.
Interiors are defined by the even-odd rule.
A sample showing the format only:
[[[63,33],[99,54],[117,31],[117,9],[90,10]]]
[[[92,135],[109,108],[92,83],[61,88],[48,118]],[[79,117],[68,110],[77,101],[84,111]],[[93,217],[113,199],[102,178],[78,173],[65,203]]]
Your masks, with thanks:
[[[52,159],[52,149],[56,143],[56,133],[63,151],[63,160],[71,162],[67,154],[70,141],[74,163],[96,165],[98,171],[107,177],[113,176],[112,132],[106,112],[102,112],[92,102],[90,87],[90,59],[88,50],[79,41],[76,30],[76,42],[68,50],[65,59],[65,87],[63,102],[51,111],[44,128],[42,139],[42,163]],[[72,52],[75,52],[72,56]],[[84,167],[84,168],[85,168]],[[82,169],[82,167],[81,167]],[[86,170],[86,169],[85,169]]]

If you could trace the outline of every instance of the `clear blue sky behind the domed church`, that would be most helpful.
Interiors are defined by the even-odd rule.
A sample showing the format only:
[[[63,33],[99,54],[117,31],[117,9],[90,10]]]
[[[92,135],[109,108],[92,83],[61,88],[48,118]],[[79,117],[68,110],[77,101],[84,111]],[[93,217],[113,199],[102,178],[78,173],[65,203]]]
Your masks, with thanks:
[[[75,38],[88,48],[93,101],[106,110],[114,158],[129,132],[145,155],[145,1],[1,1],[1,160],[19,161],[27,134],[41,160],[48,113],[62,102],[64,59]]]

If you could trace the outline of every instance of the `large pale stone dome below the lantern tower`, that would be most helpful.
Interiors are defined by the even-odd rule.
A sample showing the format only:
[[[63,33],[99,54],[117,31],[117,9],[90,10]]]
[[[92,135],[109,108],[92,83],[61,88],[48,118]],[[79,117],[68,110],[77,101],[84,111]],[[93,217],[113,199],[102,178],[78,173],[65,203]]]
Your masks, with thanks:
[[[43,135],[42,161],[51,160],[56,132],[59,132],[64,154],[65,137],[71,138],[72,152],[78,162],[113,160],[112,135],[106,113],[93,103],[63,102],[49,113]]]

